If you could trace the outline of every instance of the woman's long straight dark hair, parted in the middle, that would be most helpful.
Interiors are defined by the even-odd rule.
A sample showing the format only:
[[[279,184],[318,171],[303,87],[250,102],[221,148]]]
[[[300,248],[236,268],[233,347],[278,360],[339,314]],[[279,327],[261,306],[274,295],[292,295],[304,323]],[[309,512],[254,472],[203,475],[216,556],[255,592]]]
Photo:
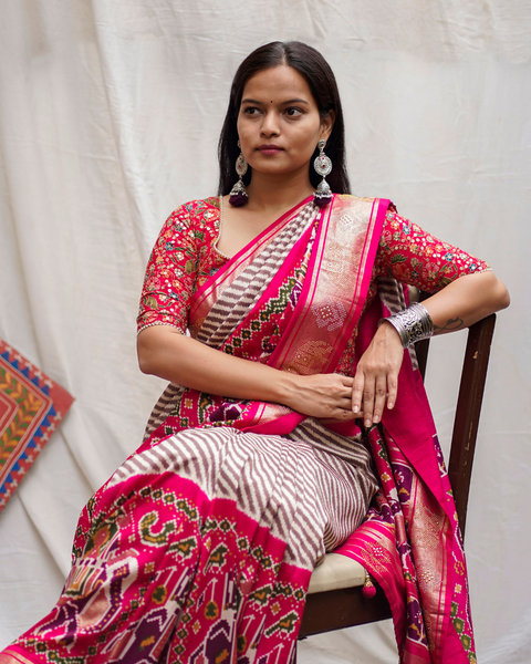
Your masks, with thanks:
[[[332,191],[336,194],[350,194],[351,185],[346,173],[345,159],[345,126],[335,76],[329,63],[319,51],[298,41],[277,41],[260,46],[248,55],[238,68],[232,81],[232,87],[230,89],[229,107],[219,137],[218,194],[220,196],[229,194],[232,185],[238,179],[235,172],[236,159],[240,154],[238,148],[237,122],[243,87],[249,79],[252,79],[259,72],[281,64],[293,68],[306,81],[321,117],[326,117],[330,111],[334,112],[334,126],[332,127],[332,133],[325,148],[326,155],[332,159],[333,168],[332,173],[326,176],[326,181]],[[313,159],[317,154],[319,149],[315,148],[310,162],[310,180],[314,187],[321,181],[321,176],[313,169]],[[246,185],[251,180],[250,172],[251,168],[243,176]]]

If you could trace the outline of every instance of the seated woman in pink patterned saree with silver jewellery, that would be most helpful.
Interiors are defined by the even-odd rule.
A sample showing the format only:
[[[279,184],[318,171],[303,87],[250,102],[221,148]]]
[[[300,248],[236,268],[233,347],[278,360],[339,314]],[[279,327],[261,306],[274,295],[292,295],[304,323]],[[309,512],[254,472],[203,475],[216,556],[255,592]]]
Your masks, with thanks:
[[[0,663],[291,662],[312,569],[340,544],[386,591],[404,662],[473,661],[404,347],[507,307],[506,288],[389,201],[345,196],[335,80],[305,44],[243,61],[219,156],[221,196],[169,217],[146,273],[139,364],[170,386],[84,509],[56,606]],[[396,279],[435,294],[400,313]]]

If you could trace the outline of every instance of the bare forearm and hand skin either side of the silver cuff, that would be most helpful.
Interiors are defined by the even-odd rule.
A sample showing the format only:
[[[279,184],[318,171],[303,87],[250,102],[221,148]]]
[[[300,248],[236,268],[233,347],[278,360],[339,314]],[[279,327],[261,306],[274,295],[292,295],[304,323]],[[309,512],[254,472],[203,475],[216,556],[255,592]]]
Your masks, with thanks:
[[[468,328],[486,315],[509,307],[509,292],[493,272],[467,274],[423,302],[435,334]],[[385,403],[393,408],[404,351],[396,330],[381,325],[360,360],[354,377],[353,411],[363,409],[366,426],[382,418]]]

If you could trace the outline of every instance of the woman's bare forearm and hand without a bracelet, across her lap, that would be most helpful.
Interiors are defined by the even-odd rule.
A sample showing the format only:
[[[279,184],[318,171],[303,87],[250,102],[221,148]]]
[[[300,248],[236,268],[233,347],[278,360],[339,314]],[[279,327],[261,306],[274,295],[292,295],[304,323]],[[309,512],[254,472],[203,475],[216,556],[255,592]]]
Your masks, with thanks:
[[[170,325],[138,334],[140,371],[200,392],[280,403],[313,417],[352,419],[353,378],[300,376],[210,349]]]

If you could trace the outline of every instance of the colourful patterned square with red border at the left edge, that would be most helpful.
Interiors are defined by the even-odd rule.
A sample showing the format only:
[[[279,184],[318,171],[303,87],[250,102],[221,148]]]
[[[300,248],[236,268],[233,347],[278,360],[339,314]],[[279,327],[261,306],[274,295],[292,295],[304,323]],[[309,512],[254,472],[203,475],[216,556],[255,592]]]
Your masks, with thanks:
[[[73,401],[0,339],[0,511]]]

